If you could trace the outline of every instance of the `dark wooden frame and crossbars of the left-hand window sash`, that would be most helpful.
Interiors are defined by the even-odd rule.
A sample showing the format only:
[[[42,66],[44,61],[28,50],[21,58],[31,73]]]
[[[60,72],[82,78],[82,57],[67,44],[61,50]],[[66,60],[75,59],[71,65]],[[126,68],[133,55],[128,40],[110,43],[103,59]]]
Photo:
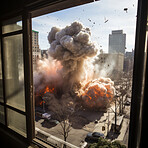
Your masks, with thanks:
[[[2,33],[2,22],[5,20],[9,20],[13,17],[22,16],[22,29],[17,31],[12,31],[9,33]],[[5,114],[5,125],[0,123],[0,127],[5,129],[8,133],[15,135],[16,137],[22,139],[26,143],[31,143],[33,138],[35,137],[35,128],[34,128],[34,103],[33,103],[33,74],[32,74],[32,36],[31,36],[31,19],[30,14],[27,11],[21,11],[19,13],[8,15],[1,20],[0,23],[0,40],[1,40],[1,61],[2,61],[2,78],[3,78],[3,102],[0,102],[0,105],[4,107],[4,114]],[[4,47],[3,47],[3,38],[9,37],[13,35],[22,34],[23,40],[23,63],[24,63],[24,89],[25,89],[25,111],[17,109],[11,105],[6,103],[5,97],[5,72],[4,72]],[[13,111],[24,115],[26,118],[26,137],[17,133],[13,129],[8,127],[7,121],[7,108],[12,109]]]

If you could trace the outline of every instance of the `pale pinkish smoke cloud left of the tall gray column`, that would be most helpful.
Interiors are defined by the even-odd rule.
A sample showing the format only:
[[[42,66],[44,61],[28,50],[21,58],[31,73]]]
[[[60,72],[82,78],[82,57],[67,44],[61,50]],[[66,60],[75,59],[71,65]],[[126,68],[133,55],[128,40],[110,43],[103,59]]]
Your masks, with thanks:
[[[46,86],[60,87],[63,83],[60,70],[62,65],[51,57],[38,60],[37,69],[34,72],[35,92],[40,92]]]

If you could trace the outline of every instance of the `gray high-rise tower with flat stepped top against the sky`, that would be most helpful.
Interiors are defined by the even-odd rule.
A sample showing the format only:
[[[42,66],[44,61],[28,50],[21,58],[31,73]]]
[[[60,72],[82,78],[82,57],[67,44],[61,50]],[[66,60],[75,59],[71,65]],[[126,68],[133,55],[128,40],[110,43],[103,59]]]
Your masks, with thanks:
[[[125,53],[126,34],[123,30],[114,30],[109,34],[109,53]]]

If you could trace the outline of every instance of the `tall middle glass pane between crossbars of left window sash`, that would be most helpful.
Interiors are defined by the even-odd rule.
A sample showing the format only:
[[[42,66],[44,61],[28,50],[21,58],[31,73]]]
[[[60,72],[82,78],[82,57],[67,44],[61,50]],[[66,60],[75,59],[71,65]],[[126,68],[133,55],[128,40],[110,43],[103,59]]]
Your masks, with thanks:
[[[25,110],[22,34],[4,38],[4,72],[7,104]]]

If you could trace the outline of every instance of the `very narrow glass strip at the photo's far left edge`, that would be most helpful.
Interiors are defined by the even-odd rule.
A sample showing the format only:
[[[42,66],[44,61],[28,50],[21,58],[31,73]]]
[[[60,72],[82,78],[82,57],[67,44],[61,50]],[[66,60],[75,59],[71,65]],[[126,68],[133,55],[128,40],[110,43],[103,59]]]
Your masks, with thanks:
[[[2,78],[1,48],[0,48],[0,102],[4,102],[3,101],[3,78]]]

